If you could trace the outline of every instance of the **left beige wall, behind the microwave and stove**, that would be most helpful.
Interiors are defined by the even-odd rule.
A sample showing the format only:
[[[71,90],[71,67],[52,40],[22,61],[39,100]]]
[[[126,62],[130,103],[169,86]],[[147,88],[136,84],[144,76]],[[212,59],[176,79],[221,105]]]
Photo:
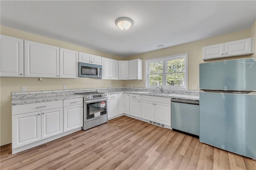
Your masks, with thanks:
[[[30,34],[20,30],[7,28],[1,26],[1,34],[68,48],[98,56],[104,56],[116,60],[122,60],[122,57],[114,56],[104,52],[92,50],[82,46],[76,46],[66,42]],[[97,80],[92,78],[78,78],[78,79],[64,79],[64,78],[42,78],[42,82],[38,82],[38,78],[0,78],[0,145],[9,144],[12,142],[12,107],[11,107],[11,92],[20,92],[21,86],[26,86],[27,91],[41,91],[41,90],[62,90],[66,85],[67,89],[74,88],[100,88],[100,87],[123,86],[122,80]]]

